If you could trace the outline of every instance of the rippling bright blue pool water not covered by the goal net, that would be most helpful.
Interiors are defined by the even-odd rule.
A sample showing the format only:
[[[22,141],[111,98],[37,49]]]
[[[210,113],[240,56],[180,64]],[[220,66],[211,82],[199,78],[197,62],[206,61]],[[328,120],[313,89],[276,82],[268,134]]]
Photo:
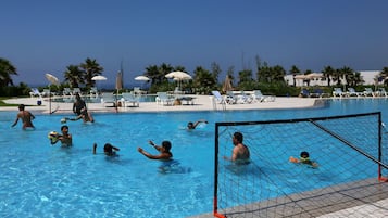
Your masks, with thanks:
[[[323,107],[235,112],[95,114],[96,123],[67,121],[74,146],[51,146],[63,115],[36,114],[36,130],[15,128],[15,112],[0,113],[1,217],[186,217],[212,211],[214,123],[321,117],[383,112],[388,100],[328,101]],[[187,121],[208,125],[185,130]],[[148,140],[173,144],[174,166],[137,152],[155,153]],[[92,155],[92,143],[100,154]],[[120,156],[101,154],[110,142]]]

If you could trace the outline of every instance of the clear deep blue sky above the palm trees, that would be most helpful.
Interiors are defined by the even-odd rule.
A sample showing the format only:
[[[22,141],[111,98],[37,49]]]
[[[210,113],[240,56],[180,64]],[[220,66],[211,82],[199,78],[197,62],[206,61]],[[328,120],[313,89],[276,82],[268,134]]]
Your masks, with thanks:
[[[12,0],[1,3],[0,57],[20,81],[63,80],[87,57],[107,82],[123,61],[125,84],[149,65],[197,66],[223,74],[270,65],[321,72],[324,66],[380,70],[388,66],[386,0]]]

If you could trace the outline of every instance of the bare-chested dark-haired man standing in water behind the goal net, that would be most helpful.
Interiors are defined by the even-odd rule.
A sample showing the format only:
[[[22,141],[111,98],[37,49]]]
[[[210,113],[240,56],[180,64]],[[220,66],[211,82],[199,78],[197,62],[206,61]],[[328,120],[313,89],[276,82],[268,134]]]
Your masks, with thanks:
[[[250,163],[250,152],[247,145],[242,143],[243,136],[241,132],[235,132],[233,134],[233,149],[231,157],[224,156],[224,159],[234,162],[236,164],[249,164]]]

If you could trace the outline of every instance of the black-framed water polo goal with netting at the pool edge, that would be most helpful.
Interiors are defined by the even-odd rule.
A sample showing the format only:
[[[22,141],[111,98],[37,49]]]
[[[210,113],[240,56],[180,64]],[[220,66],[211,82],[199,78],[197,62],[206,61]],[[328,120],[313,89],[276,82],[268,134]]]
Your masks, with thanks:
[[[231,155],[234,132],[243,134],[242,143],[250,150],[249,165],[236,165],[224,158]],[[313,206],[299,205],[300,201],[314,198],[313,193],[326,193],[339,184],[346,188],[376,177],[378,181],[387,181],[385,134],[380,112],[216,123],[213,215],[276,217],[305,213],[306,208],[326,207],[320,201],[309,203]],[[291,156],[300,158],[302,151],[310,153],[316,167],[289,162]]]

